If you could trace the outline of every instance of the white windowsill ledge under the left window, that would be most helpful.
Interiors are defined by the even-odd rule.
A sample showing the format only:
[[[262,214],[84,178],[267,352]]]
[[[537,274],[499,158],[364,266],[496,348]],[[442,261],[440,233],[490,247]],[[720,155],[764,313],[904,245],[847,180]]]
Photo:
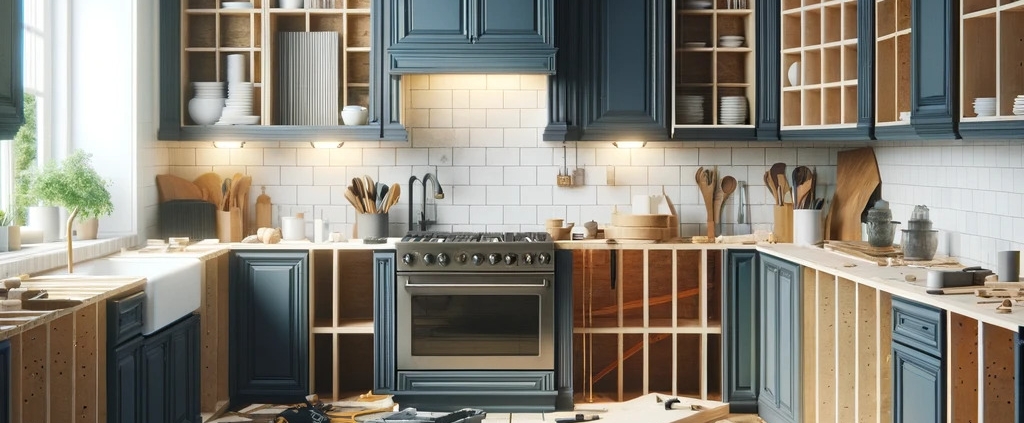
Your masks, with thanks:
[[[130,248],[136,244],[135,237],[115,237],[101,240],[75,241],[72,244],[75,262],[91,260]],[[0,253],[0,278],[22,273],[35,273],[68,265],[68,244],[61,240],[55,243],[24,244],[17,251]]]

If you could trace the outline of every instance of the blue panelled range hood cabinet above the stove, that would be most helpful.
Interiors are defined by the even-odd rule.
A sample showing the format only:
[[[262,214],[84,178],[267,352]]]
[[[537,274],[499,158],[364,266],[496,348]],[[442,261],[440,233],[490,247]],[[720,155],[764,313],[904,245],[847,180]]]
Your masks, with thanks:
[[[386,0],[392,74],[554,74],[554,0]]]

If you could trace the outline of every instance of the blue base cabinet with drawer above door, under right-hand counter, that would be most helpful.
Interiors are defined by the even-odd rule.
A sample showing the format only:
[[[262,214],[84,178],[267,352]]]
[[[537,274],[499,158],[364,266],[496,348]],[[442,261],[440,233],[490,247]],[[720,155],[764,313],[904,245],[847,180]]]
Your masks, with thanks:
[[[945,421],[945,312],[893,297],[893,421]]]

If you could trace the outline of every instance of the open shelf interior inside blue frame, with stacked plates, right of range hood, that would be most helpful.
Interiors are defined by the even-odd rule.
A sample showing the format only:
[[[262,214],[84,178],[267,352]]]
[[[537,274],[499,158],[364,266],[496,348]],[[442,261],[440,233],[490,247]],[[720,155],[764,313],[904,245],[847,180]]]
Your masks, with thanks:
[[[673,126],[751,128],[756,116],[756,0],[713,0],[699,8],[693,0],[677,0],[673,18]],[[742,36],[738,47],[725,47],[719,37]],[[697,43],[702,43],[698,45]],[[682,96],[702,97],[702,118],[689,119]],[[742,123],[722,123],[723,96],[746,97]]]

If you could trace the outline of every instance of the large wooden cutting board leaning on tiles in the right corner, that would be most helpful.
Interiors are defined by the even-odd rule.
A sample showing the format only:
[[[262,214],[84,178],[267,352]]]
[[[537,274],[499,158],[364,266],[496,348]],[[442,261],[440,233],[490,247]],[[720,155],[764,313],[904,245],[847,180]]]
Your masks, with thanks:
[[[839,152],[836,194],[825,218],[825,239],[860,241],[860,216],[881,191],[882,176],[871,147]]]

